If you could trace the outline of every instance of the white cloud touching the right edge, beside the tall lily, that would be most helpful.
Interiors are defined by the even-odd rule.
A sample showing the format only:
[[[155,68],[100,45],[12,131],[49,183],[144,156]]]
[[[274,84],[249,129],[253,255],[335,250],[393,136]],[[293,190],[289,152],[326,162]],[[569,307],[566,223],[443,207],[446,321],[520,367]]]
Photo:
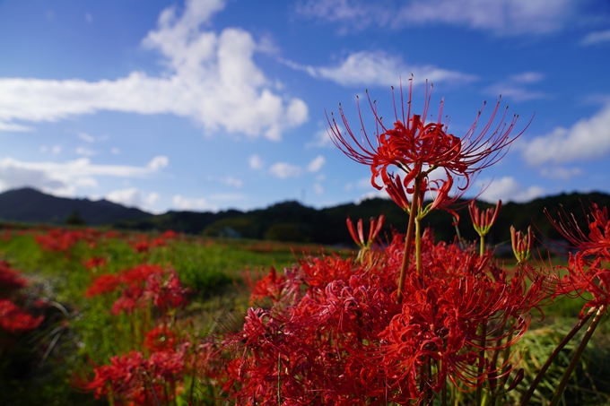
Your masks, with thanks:
[[[571,128],[557,127],[549,134],[518,145],[530,165],[602,158],[610,151],[610,103]]]

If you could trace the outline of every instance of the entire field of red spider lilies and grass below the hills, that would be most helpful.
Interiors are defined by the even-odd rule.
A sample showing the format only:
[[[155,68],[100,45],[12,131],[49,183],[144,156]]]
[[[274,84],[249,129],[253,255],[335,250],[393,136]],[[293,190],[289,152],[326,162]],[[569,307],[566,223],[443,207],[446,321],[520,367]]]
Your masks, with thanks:
[[[0,241],[3,404],[500,406],[610,404],[610,219],[546,213],[566,254],[511,228],[514,258],[485,237],[501,202],[454,211],[518,135],[481,117],[462,137],[411,114],[375,132],[340,110],[335,145],[370,168],[405,211],[347,219],[342,253],[247,241],[99,229],[4,228]],[[342,131],[344,128],[344,132]],[[454,215],[437,241],[423,219]],[[397,227],[398,225],[395,224]],[[367,231],[367,232],[365,232]],[[264,267],[261,269],[259,267]]]

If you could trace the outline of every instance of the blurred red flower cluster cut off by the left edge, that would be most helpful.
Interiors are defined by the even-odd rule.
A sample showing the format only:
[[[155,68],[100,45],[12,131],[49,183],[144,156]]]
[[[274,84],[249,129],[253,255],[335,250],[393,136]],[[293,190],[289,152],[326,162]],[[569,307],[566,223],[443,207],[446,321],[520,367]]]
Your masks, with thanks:
[[[35,329],[43,316],[34,316],[14,303],[13,293],[27,286],[21,272],[13,270],[6,261],[0,261],[0,329],[9,333],[22,333]]]

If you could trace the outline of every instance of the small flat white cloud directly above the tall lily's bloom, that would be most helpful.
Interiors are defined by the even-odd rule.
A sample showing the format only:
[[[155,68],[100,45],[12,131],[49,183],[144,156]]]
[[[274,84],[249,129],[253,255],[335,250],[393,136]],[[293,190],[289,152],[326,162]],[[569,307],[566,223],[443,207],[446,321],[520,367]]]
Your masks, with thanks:
[[[470,82],[475,76],[440,69],[433,65],[406,65],[402,59],[384,52],[354,52],[339,65],[315,67],[283,61],[286,65],[342,86],[397,86],[414,75],[415,82]]]

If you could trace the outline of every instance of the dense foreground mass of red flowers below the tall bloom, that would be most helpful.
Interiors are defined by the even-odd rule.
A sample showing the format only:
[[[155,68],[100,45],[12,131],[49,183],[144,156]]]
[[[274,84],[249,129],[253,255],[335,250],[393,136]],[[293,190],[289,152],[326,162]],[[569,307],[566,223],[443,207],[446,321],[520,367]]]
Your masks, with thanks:
[[[409,272],[402,304],[399,234],[374,266],[324,256],[272,271],[255,294],[273,306],[250,308],[226,341],[240,356],[225,389],[243,405],[364,405],[422,400],[447,380],[464,390],[497,384],[512,366],[494,354],[525,333],[548,281],[509,278],[489,254],[434,244],[431,230],[422,244],[425,276]]]

